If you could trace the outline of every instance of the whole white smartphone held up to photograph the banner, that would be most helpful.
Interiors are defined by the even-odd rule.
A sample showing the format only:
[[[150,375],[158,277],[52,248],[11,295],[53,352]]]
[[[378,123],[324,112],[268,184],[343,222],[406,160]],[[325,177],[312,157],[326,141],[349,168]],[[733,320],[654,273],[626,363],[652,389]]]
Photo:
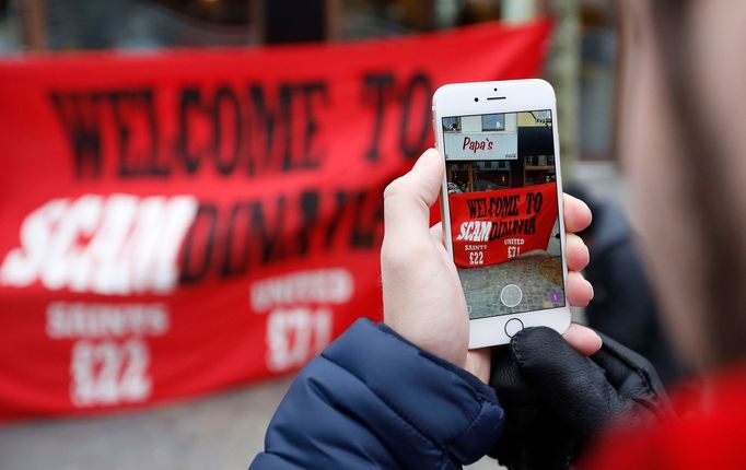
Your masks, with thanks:
[[[544,80],[454,83],[433,96],[441,215],[469,313],[469,348],[523,328],[564,332],[564,221],[555,91]]]

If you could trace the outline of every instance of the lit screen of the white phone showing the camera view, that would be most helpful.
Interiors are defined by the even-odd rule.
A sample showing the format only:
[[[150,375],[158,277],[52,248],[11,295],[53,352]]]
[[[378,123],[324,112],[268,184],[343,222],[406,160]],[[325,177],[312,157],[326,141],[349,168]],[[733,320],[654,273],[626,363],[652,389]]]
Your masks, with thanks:
[[[566,305],[551,110],[442,118],[470,319]]]

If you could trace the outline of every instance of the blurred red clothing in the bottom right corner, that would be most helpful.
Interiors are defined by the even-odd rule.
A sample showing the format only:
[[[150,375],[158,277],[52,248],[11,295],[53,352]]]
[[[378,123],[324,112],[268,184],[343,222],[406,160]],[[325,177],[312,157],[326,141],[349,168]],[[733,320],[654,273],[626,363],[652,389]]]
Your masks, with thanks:
[[[680,420],[610,433],[585,459],[586,469],[746,469],[746,368],[713,380],[706,392],[683,392]]]

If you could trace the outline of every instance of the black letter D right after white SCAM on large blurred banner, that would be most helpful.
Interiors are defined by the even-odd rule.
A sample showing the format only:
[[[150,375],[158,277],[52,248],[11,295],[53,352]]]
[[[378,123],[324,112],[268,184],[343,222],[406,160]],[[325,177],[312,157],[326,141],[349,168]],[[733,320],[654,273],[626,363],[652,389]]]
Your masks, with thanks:
[[[213,204],[200,204],[195,222],[184,239],[179,282],[194,284],[207,274],[212,261],[212,249],[218,225],[218,208]],[[202,254],[201,259],[199,254]]]

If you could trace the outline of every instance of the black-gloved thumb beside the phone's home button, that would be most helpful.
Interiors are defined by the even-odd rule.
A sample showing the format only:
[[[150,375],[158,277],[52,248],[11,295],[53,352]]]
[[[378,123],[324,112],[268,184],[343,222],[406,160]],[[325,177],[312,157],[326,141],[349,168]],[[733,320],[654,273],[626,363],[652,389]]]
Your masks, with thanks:
[[[539,402],[584,437],[631,406],[619,397],[604,369],[550,328],[518,331],[511,341],[511,354]]]

